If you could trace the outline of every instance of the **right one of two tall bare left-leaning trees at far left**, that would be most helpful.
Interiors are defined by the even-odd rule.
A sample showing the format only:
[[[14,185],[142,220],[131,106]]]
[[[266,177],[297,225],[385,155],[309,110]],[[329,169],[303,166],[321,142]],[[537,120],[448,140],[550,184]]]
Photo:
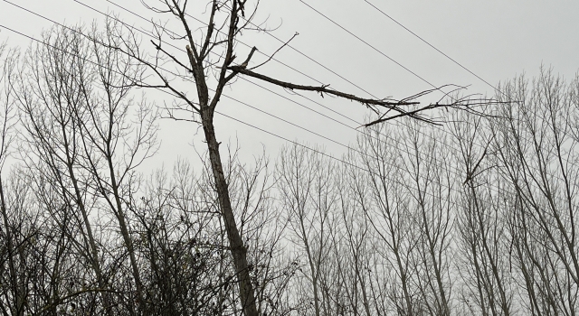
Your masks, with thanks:
[[[109,34],[100,39],[99,35],[93,33],[97,41],[108,41]],[[128,78],[138,79],[142,70],[132,65],[126,55],[99,42],[91,42],[90,49],[96,66],[94,84],[99,89],[90,87],[92,78],[81,82],[86,102],[83,110],[88,118],[79,119],[84,166],[90,172],[94,190],[118,220],[135,281],[138,311],[147,314],[126,203],[138,186],[134,169],[157,151],[157,114],[145,99],[134,99],[129,94]]]

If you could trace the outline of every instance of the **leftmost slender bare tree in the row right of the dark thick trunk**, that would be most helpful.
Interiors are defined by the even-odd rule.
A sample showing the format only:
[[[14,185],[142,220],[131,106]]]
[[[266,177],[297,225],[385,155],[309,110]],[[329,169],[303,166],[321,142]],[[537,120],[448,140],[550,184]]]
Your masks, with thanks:
[[[337,280],[337,275],[327,274],[333,263],[328,260],[335,247],[332,235],[337,233],[335,168],[327,158],[307,152],[298,145],[280,153],[278,190],[293,235],[289,238],[304,253],[301,276],[311,286],[304,299],[313,307],[313,311],[307,309],[305,312],[315,315],[332,313],[332,299],[335,299],[331,283]]]

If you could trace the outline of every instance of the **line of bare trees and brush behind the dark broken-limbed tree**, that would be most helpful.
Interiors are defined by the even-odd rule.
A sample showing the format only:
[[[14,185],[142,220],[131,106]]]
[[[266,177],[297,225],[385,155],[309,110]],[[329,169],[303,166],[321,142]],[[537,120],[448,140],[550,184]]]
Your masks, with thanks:
[[[145,71],[90,34],[2,48],[0,312],[241,315],[208,162],[137,172],[158,148]],[[364,129],[339,159],[230,150],[259,312],[577,314],[579,78],[542,70],[495,98],[442,128]]]

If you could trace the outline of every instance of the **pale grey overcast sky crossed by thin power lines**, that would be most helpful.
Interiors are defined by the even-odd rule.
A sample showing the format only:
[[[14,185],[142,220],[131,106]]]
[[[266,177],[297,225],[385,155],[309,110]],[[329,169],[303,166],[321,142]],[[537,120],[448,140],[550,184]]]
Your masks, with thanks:
[[[101,12],[114,12],[125,22],[147,29],[147,31],[151,29],[149,24],[112,4],[122,5],[135,13],[142,14],[147,19],[154,18],[160,21],[169,19],[168,16],[148,12],[138,0],[18,0],[17,2],[14,0],[11,2],[56,22],[68,24],[103,21],[103,15],[80,3],[91,5]],[[369,2],[492,85],[502,80],[512,79],[523,72],[527,74],[527,77],[532,78],[538,73],[541,64],[552,67],[555,73],[566,79],[574,77],[579,69],[579,19],[577,19],[579,2],[577,1],[369,0]],[[204,2],[201,3],[204,4]],[[375,49],[346,33],[312,8],[325,14],[349,32],[356,34]],[[191,14],[195,15],[194,12]],[[365,0],[261,0],[255,22],[267,21],[266,24],[270,27],[279,26],[273,34],[282,40],[289,39],[296,32],[299,33],[299,36],[290,44],[300,52],[286,47],[276,55],[276,59],[311,78],[331,84],[333,88],[363,97],[368,97],[368,95],[360,88],[379,98],[404,98],[432,88],[429,83],[425,82],[428,81],[435,86],[470,85],[468,93],[492,95],[493,91],[489,85],[460,68],[384,14]],[[0,1],[0,24],[35,38],[40,38],[40,33],[51,26],[51,23],[43,18],[10,5],[4,0]],[[2,29],[0,42],[6,40],[12,46],[19,45],[24,48],[30,42],[18,34]],[[144,41],[144,43],[147,42],[148,39]],[[243,36],[243,42],[256,46],[265,53],[271,53],[280,46],[280,42],[265,34],[246,33]],[[240,51],[246,51],[246,49],[240,45]],[[340,79],[336,74],[308,60],[301,53],[360,88]],[[239,55],[243,56],[242,53]],[[263,59],[264,57],[259,55],[254,58],[255,62]],[[271,77],[295,83],[318,84],[274,61],[259,71]],[[302,106],[311,107],[344,122],[346,125],[356,126],[356,123],[348,121],[343,116],[361,122],[367,114],[364,107],[352,102],[335,98],[319,98],[316,94],[304,94],[343,115],[338,116],[318,104],[292,96],[283,89],[271,87],[265,83],[261,85],[271,88],[283,97],[299,102]],[[304,107],[280,98],[267,90],[252,86],[243,80],[238,80],[225,91],[225,94],[337,142],[348,144],[356,139],[356,131],[324,116],[318,116]],[[439,96],[432,96],[432,99],[437,97]],[[156,99],[157,102],[161,102],[162,98],[156,94],[151,95],[151,99]],[[228,98],[222,99],[218,111],[290,140],[325,146],[327,153],[340,155],[345,152],[345,148],[338,144]],[[238,139],[242,147],[242,155],[247,157],[260,154],[261,149],[265,148],[266,153],[273,158],[280,145],[285,144],[285,141],[280,138],[223,116],[216,117],[216,124],[218,140],[227,144],[228,141],[234,143]],[[204,144],[201,143],[203,135],[201,130],[197,130],[198,126],[164,120],[161,127],[163,142],[161,153],[151,161],[150,166],[158,166],[161,163],[170,166],[177,156],[195,158],[196,153],[191,144],[197,146],[199,151],[204,151]]]

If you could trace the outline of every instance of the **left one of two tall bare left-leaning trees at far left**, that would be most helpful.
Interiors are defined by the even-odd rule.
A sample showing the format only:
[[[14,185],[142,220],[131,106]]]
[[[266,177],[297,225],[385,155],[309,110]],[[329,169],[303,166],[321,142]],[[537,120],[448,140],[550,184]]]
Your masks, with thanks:
[[[28,168],[42,175],[53,192],[60,192],[66,206],[62,217],[71,217],[80,228],[82,240],[78,250],[96,276],[94,285],[106,289],[108,284],[98,251],[100,242],[90,220],[93,209],[92,196],[87,194],[90,183],[87,172],[81,169],[79,122],[87,117],[82,98],[82,89],[86,87],[80,82],[90,72],[90,46],[77,32],[66,29],[53,29],[44,34],[43,40],[52,46],[38,44],[27,53],[23,71],[26,75],[21,77],[18,89],[27,132],[21,153],[26,155]],[[102,295],[105,306],[110,306],[108,294]]]

